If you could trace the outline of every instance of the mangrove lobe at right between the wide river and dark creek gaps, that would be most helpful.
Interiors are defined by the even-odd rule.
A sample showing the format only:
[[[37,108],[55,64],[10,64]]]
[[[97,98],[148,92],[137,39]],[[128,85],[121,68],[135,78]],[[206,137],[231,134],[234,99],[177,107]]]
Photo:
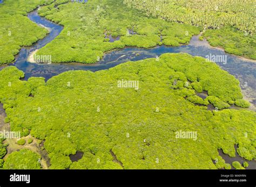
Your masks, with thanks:
[[[178,71],[178,73],[171,73],[172,77],[170,77],[172,83],[173,80],[176,80],[176,87],[179,85],[179,81],[183,81],[185,84],[188,80],[192,82],[191,85],[194,85],[194,88],[199,92],[205,90],[209,96],[218,97],[223,102],[242,98],[239,81],[228,74],[227,71],[218,68],[218,65],[212,62],[206,62],[201,57],[194,57],[194,60],[191,61],[190,55],[187,54],[174,56],[175,58],[172,59],[172,62],[168,66],[174,71]],[[169,58],[170,54],[161,55],[161,59],[165,61],[170,61]],[[173,78],[174,75],[178,77]],[[229,86],[227,87],[227,85]],[[214,100],[214,97],[210,98]]]

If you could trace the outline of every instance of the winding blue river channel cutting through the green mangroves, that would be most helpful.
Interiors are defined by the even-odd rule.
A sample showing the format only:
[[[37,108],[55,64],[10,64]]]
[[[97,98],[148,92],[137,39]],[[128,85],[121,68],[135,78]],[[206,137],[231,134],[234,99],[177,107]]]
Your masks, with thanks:
[[[98,71],[103,69],[109,69],[117,66],[120,63],[127,61],[138,61],[147,59],[150,57],[160,56],[164,53],[189,53],[193,56],[206,55],[227,55],[227,63],[218,63],[219,66],[228,71],[230,74],[234,75],[240,81],[242,93],[245,99],[252,103],[251,110],[256,109],[256,63],[251,60],[244,59],[239,56],[231,55],[225,53],[222,49],[211,47],[206,40],[199,41],[198,35],[192,37],[190,44],[183,45],[179,47],[171,46],[157,46],[150,49],[137,48],[137,47],[125,47],[124,49],[118,49],[106,53],[103,60],[95,64],[82,64],[82,63],[30,63],[28,62],[28,57],[31,53],[35,52],[37,49],[42,48],[53,39],[55,39],[59,33],[63,30],[63,26],[57,25],[44,17],[38,15],[37,11],[28,13],[30,20],[36,24],[47,27],[50,29],[50,33],[42,40],[39,40],[30,47],[23,47],[19,54],[16,56],[15,62],[0,66],[0,70],[6,66],[16,66],[18,69],[24,71],[24,80],[28,80],[29,77],[45,77],[49,80],[52,76],[56,76],[64,71],[69,70],[90,70]],[[247,86],[246,86],[247,84]],[[0,107],[1,109],[1,107]],[[256,111],[256,110],[255,110]],[[0,110],[1,114],[1,110]],[[219,152],[221,156],[227,161],[233,161],[231,157]],[[237,154],[234,158],[235,160],[240,159]],[[248,161],[250,163],[250,168],[256,167],[255,161]],[[231,162],[232,163],[232,162]],[[255,169],[255,168],[254,168]]]

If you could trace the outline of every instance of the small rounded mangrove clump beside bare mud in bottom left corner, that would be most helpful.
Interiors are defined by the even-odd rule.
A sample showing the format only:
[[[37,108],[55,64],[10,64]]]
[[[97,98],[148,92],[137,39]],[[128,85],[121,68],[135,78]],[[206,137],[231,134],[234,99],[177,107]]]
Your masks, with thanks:
[[[41,169],[41,157],[29,149],[12,152],[4,162],[3,169]]]

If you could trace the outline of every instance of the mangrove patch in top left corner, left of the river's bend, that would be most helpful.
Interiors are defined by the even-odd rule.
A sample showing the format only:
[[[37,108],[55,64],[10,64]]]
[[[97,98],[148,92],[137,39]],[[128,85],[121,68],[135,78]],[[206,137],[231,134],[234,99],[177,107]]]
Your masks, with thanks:
[[[0,64],[14,60],[22,46],[30,46],[45,37],[48,30],[26,17],[26,13],[47,0],[9,0],[0,4]]]

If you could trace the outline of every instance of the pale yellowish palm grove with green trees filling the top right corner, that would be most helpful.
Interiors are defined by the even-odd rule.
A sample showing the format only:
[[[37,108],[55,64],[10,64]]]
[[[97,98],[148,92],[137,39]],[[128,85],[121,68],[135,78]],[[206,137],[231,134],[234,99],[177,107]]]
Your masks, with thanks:
[[[209,28],[204,37],[212,46],[225,48],[227,53],[256,59],[254,0],[123,0],[127,6],[143,11],[147,16],[167,21]],[[214,30],[212,30],[214,29]],[[203,40],[203,37],[199,37]],[[170,44],[177,46],[176,41]]]

